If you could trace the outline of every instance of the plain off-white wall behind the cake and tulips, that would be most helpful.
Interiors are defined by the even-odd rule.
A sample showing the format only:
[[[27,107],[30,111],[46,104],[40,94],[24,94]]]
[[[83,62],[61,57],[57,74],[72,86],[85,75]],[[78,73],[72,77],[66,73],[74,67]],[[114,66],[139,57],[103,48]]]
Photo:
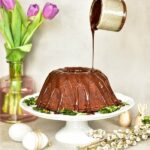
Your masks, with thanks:
[[[48,0],[20,0],[41,7]],[[91,67],[89,10],[92,0],[51,0],[60,8],[53,21],[46,21],[33,39],[25,62],[25,74],[36,81],[37,91],[47,74],[64,66]],[[150,1],[126,0],[128,18],[119,33],[97,31],[95,67],[102,70],[114,91],[150,105]],[[0,76],[8,74],[0,37]]]

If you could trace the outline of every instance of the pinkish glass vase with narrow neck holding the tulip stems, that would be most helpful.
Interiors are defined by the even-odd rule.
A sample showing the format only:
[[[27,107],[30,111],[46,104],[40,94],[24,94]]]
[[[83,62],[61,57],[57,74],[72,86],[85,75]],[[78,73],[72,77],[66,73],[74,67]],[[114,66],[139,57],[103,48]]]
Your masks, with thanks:
[[[23,75],[23,62],[8,62],[9,76],[0,79],[0,121],[29,122],[37,117],[22,110],[21,98],[35,92],[31,77]]]

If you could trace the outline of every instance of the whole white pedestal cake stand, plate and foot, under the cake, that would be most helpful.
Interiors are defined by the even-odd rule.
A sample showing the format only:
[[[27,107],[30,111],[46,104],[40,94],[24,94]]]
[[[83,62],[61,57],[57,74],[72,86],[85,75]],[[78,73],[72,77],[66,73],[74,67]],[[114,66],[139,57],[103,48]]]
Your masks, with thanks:
[[[31,106],[27,106],[24,103],[24,100],[30,97],[37,97],[38,95],[39,94],[34,94],[34,95],[24,97],[20,102],[20,106],[25,111],[40,118],[66,121],[65,127],[63,127],[60,131],[56,133],[55,138],[57,141],[61,143],[71,144],[71,145],[83,145],[93,141],[92,138],[87,136],[87,131],[91,129],[88,125],[88,121],[112,118],[120,115],[125,111],[128,111],[134,106],[134,100],[132,98],[120,93],[116,93],[118,99],[128,103],[129,105],[126,105],[122,107],[120,110],[113,113],[109,113],[109,114],[95,113],[93,115],[76,115],[76,116],[69,116],[63,114],[45,114],[33,110]]]

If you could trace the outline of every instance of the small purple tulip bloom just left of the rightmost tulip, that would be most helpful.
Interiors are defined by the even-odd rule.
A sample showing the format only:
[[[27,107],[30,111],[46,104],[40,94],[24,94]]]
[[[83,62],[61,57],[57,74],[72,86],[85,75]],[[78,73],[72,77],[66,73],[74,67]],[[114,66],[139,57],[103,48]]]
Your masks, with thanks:
[[[27,12],[28,17],[36,16],[39,12],[39,9],[39,5],[37,4],[30,5]]]

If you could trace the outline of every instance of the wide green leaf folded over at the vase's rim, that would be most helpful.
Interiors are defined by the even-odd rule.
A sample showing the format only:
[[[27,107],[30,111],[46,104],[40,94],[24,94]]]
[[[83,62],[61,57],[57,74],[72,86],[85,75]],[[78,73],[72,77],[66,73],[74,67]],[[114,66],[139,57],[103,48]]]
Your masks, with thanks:
[[[32,44],[27,44],[24,46],[16,47],[16,48],[8,48],[7,44],[5,44],[7,56],[6,59],[8,61],[22,61],[28,52],[31,51]]]

